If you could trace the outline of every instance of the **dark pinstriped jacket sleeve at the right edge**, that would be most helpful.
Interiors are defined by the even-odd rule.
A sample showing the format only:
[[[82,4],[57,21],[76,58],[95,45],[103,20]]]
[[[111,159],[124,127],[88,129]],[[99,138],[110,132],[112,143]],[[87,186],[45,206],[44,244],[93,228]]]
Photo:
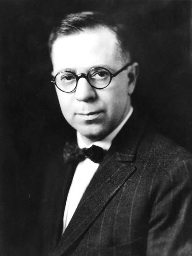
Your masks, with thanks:
[[[157,172],[151,184],[154,202],[147,256],[192,255],[192,161]]]

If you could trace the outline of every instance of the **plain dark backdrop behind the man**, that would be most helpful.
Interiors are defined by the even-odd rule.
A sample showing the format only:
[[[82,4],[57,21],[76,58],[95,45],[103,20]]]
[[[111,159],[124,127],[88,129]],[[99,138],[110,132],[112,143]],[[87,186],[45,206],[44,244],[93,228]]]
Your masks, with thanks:
[[[141,46],[133,105],[192,151],[191,7],[183,0],[0,0],[1,255],[16,255],[7,253],[10,244],[16,250],[16,238],[33,233],[23,227],[35,216],[35,193],[43,187],[45,173],[36,166],[46,162],[45,145],[62,151],[70,129],[50,82],[47,41],[58,20],[97,10],[131,24]]]

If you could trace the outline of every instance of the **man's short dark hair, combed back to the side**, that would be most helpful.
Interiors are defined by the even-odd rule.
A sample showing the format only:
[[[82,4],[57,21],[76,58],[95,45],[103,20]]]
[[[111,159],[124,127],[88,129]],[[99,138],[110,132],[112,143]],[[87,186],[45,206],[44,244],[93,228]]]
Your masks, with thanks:
[[[125,59],[129,56],[133,59],[135,40],[130,27],[116,22],[114,17],[109,17],[101,12],[78,12],[66,15],[60,25],[51,32],[48,42],[50,55],[52,45],[58,37],[78,34],[86,29],[100,26],[107,27],[115,33],[122,57]]]

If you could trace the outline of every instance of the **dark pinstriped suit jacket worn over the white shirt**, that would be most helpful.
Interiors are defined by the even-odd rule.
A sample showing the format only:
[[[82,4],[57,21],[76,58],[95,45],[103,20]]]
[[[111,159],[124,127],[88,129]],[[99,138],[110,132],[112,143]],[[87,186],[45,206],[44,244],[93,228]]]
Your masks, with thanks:
[[[115,137],[62,237],[73,173],[62,152],[47,162],[20,255],[192,255],[191,155],[144,117],[134,113]]]

